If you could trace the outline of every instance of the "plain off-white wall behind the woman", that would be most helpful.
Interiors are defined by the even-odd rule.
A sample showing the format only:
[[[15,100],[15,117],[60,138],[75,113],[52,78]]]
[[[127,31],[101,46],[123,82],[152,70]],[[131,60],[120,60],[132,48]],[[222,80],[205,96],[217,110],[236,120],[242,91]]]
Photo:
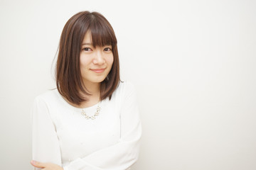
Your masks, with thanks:
[[[256,1],[0,0],[0,169],[32,169],[33,98],[68,18],[98,11],[138,91],[134,170],[256,169]],[[100,160],[99,160],[100,161]]]

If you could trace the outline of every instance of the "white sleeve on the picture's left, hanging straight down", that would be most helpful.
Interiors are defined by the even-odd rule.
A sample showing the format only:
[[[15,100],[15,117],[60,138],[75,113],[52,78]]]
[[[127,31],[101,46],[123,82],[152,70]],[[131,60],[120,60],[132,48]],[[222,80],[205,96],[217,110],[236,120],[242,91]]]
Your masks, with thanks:
[[[61,166],[60,147],[55,125],[50,118],[46,103],[41,98],[36,98],[33,103],[31,119],[33,160]]]

